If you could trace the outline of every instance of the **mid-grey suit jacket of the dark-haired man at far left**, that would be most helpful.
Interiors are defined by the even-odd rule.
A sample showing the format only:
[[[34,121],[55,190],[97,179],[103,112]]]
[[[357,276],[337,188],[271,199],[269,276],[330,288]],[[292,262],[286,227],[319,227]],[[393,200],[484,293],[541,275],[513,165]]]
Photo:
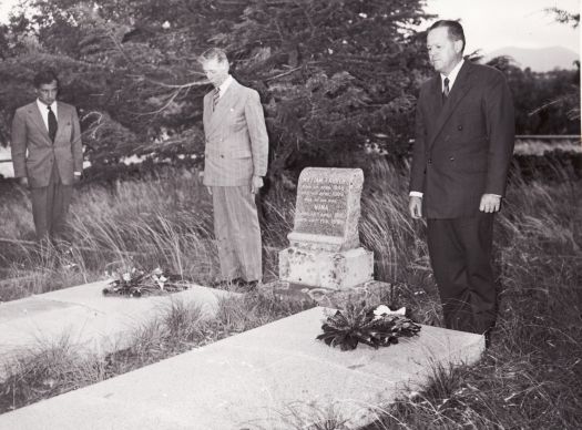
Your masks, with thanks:
[[[73,183],[73,172],[83,168],[81,126],[74,106],[57,102],[59,127],[54,143],[49,137],[37,101],[19,108],[12,120],[12,164],[14,176],[29,180],[33,188],[49,185],[53,163],[64,185]]]

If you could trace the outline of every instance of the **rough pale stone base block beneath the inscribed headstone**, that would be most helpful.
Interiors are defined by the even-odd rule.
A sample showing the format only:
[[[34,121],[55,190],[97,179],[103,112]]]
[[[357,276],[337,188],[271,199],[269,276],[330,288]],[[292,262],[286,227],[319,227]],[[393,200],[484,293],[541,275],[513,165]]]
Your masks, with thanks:
[[[313,250],[290,246],[279,253],[282,280],[310,287],[346,289],[372,279],[374,253]]]

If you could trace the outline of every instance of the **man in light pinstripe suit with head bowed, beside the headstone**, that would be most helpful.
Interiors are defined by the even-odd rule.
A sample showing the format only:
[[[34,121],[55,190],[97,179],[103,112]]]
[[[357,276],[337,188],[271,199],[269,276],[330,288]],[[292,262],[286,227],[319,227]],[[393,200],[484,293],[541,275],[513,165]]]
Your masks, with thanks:
[[[255,194],[267,172],[268,136],[255,90],[228,74],[223,50],[200,62],[214,90],[204,96],[204,185],[213,197],[214,232],[225,281],[255,287],[263,277]]]

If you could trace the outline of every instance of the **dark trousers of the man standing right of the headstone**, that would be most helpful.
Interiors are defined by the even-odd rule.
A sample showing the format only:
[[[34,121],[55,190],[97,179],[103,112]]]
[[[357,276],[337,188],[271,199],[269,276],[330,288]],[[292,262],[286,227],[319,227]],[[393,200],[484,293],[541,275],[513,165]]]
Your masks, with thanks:
[[[447,328],[482,334],[497,317],[493,214],[428,219],[428,248]]]

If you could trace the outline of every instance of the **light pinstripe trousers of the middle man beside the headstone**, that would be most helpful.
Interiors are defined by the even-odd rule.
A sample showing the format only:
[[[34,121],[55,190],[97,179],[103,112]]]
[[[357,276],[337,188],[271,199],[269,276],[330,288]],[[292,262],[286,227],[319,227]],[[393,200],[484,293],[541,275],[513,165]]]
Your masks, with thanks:
[[[212,186],[214,234],[223,279],[263,278],[261,227],[249,185]]]

